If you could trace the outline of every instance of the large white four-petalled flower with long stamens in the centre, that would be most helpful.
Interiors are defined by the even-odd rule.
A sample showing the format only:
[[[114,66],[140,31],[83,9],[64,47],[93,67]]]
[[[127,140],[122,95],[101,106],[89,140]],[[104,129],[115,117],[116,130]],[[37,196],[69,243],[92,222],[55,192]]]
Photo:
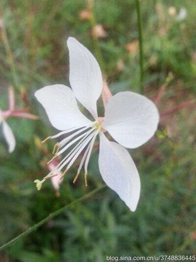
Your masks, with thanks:
[[[102,89],[98,62],[88,49],[72,37],[68,39],[68,48],[72,89],[64,85],[53,85],[43,87],[35,93],[45,108],[51,124],[62,131],[49,138],[57,138],[72,132],[58,143],[54,158],[77,143],[49,175],[58,174],[66,166],[63,173],[65,175],[85,149],[73,182],[77,179],[85,161],[87,185],[89,158],[96,136],[99,135],[100,174],[105,183],[134,211],[140,196],[140,178],[131,156],[123,146],[136,148],[154,135],[159,121],[157,108],[145,96],[129,91],[119,92],[106,104],[104,118],[98,117],[97,100]],[[79,111],[75,98],[91,113],[95,121],[89,120]],[[110,142],[103,134],[105,130],[119,144]]]

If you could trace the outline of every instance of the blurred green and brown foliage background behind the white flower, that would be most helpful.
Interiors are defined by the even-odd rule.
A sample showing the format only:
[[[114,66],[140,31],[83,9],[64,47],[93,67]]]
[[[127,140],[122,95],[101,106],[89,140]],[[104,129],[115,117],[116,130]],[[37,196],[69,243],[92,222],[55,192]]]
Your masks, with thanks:
[[[196,255],[196,4],[142,0],[141,12],[144,94],[154,100],[163,85],[166,89],[157,103],[160,132],[142,148],[129,150],[141,178],[136,211],[104,188],[1,252],[0,262]],[[16,137],[11,154],[0,129],[1,245],[103,184],[98,141],[88,187],[82,176],[72,183],[79,160],[60,185],[60,196],[50,181],[41,191],[33,183],[48,174],[46,162],[55,144],[40,141],[57,133],[34,93],[46,85],[70,86],[69,36],[95,55],[113,94],[140,92],[135,0],[0,1],[0,109],[8,109],[12,85],[16,108],[40,117],[7,119]],[[186,102],[189,106],[176,108]],[[98,110],[103,116],[101,100]]]

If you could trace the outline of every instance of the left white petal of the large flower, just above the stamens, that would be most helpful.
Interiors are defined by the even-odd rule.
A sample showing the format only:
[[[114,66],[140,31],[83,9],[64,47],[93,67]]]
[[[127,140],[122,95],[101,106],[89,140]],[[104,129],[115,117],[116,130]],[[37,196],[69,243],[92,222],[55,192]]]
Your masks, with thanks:
[[[45,108],[51,124],[59,130],[91,122],[79,111],[73,91],[69,87],[43,87],[35,92],[35,96]]]

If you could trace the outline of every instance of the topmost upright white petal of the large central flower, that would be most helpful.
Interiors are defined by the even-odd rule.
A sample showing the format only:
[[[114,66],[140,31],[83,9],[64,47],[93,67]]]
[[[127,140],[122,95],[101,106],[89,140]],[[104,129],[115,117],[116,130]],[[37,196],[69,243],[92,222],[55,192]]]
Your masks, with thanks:
[[[70,84],[77,100],[95,118],[97,100],[102,89],[102,75],[96,58],[75,38],[69,37]]]

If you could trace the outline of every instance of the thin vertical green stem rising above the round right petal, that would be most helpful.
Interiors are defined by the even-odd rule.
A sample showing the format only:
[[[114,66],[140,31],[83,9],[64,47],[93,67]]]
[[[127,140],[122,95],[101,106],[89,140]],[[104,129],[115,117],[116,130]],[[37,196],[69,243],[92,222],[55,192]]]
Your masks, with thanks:
[[[140,0],[136,1],[137,17],[138,17],[138,31],[139,31],[139,42],[140,42],[140,93],[144,92],[144,68],[143,68],[143,37],[142,37],[142,20],[140,10]]]

